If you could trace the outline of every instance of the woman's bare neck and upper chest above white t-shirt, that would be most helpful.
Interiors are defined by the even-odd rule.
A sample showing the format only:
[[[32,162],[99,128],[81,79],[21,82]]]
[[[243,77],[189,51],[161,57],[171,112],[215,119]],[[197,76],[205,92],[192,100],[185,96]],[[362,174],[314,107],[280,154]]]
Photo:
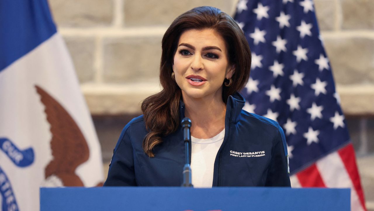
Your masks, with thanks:
[[[226,104],[222,96],[191,99],[183,95],[186,105],[185,116],[191,119],[191,135],[208,139],[220,133],[225,127]]]

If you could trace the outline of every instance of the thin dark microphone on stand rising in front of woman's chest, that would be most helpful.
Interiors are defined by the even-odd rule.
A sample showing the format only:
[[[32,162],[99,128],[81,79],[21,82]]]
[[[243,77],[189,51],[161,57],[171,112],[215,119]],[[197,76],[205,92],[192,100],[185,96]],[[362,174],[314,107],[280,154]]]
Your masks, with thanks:
[[[181,126],[183,128],[183,141],[184,141],[184,148],[185,148],[185,156],[186,156],[186,164],[183,167],[183,184],[182,187],[193,187],[191,182],[191,166],[190,166],[190,153],[189,147],[190,144],[190,137],[191,137],[191,120],[187,117],[183,118],[181,121]]]

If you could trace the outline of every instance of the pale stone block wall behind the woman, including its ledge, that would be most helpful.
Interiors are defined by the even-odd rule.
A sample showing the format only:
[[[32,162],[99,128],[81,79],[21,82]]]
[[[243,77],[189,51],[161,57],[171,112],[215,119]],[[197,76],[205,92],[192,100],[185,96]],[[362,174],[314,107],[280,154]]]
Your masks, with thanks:
[[[172,20],[196,6],[234,14],[237,0],[50,0],[93,115],[140,112],[160,90],[160,42]],[[374,0],[315,0],[346,115],[373,115]],[[147,84],[147,89],[139,83]],[[136,93],[136,94],[135,94]],[[135,100],[128,100],[137,96]],[[103,102],[105,98],[105,102]]]

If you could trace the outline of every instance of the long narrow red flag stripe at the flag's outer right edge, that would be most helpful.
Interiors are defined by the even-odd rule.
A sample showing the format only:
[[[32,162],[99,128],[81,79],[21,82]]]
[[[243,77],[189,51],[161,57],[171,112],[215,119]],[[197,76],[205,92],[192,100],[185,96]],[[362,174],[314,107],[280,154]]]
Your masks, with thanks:
[[[338,150],[341,160],[348,172],[350,179],[352,180],[353,186],[355,187],[358,198],[360,199],[361,205],[366,210],[364,191],[362,190],[360,176],[356,165],[355,150],[352,144],[348,144],[346,147]]]

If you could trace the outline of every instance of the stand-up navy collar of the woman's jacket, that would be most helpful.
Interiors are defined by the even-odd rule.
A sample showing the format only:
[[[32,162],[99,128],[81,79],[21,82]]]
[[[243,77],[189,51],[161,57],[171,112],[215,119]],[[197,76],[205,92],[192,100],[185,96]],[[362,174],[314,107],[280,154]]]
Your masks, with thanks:
[[[235,92],[234,94],[230,95],[227,99],[226,104],[226,114],[230,114],[231,109],[232,111],[232,122],[237,123],[240,119],[240,112],[242,112],[242,108],[244,106],[245,99],[244,97],[239,93]],[[180,100],[179,102],[179,114],[181,117],[181,120],[184,118],[184,109],[186,108],[186,105],[184,104],[183,100]],[[228,112],[229,111],[229,112]]]

